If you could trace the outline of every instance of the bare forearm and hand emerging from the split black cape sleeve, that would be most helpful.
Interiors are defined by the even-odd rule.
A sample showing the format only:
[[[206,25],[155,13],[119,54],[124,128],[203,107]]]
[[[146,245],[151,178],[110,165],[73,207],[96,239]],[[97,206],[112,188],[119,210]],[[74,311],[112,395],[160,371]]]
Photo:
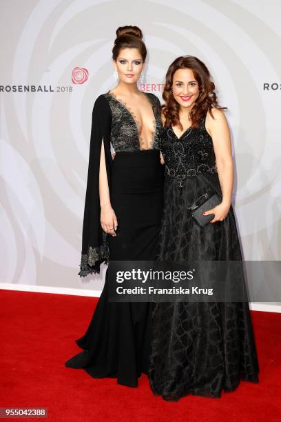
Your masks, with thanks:
[[[110,203],[110,190],[108,188],[107,172],[105,166],[105,148],[103,141],[101,144],[101,159],[99,171],[99,196],[101,205],[101,227],[104,232],[116,236],[114,230],[117,229],[117,218]]]

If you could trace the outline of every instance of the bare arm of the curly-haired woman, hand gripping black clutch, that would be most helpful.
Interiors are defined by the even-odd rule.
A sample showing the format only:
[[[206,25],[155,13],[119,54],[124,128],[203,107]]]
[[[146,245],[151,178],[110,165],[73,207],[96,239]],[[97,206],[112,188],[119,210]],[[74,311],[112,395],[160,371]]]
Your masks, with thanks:
[[[231,206],[233,189],[233,159],[231,154],[231,135],[225,114],[217,108],[212,109],[214,119],[207,114],[206,129],[213,139],[214,152],[216,155],[216,167],[222,190],[222,202],[220,205],[208,210],[204,215],[215,214],[210,223],[222,221],[227,217]]]

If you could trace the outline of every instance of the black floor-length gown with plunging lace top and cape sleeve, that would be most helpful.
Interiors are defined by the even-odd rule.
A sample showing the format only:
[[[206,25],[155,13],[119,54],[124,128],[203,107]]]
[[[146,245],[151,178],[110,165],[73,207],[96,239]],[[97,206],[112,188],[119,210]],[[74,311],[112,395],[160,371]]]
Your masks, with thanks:
[[[110,266],[110,260],[155,259],[163,209],[164,168],[160,164],[159,152],[160,102],[154,94],[146,95],[154,111],[155,128],[151,148],[148,150],[142,149],[138,122],[125,103],[116,99],[110,92],[102,94],[96,100],[98,110],[103,111],[103,119],[96,118],[94,112],[90,157],[94,143],[98,143],[99,147],[95,152],[100,154],[101,137],[108,162],[111,159],[109,143],[116,152],[114,160],[107,165],[107,178],[112,208],[118,219],[118,230],[116,237],[107,237],[101,233],[98,238],[100,245],[92,245],[94,241],[85,240],[90,230],[90,224],[85,220],[89,214],[86,210],[87,203],[90,203],[86,196],[83,226],[85,243],[79,273],[81,277],[90,272],[98,272],[99,264],[103,261],[109,260]],[[96,104],[95,107],[97,108]],[[108,113],[110,119],[104,123],[104,115]],[[108,122],[110,133],[106,133]],[[106,126],[101,137],[96,134],[96,125]],[[94,157],[94,153],[92,155]],[[91,165],[92,161],[88,172],[87,191],[92,191],[89,181]],[[98,174],[95,174],[95,177],[98,177]],[[70,368],[83,368],[94,378],[114,377],[119,384],[136,387],[138,377],[142,372],[147,374],[148,370],[152,303],[109,302],[107,275],[108,269],[103,292],[90,325],[85,334],[76,340],[83,351],[69,359],[65,365]]]

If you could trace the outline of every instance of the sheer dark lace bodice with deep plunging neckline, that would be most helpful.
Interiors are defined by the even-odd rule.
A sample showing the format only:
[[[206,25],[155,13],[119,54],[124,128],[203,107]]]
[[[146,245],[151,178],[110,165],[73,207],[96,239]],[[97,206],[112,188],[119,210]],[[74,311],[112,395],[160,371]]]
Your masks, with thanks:
[[[160,101],[156,95],[145,92],[154,112],[154,133],[149,149],[160,149],[160,132],[162,122],[160,117]],[[129,152],[147,149],[143,146],[140,134],[140,125],[127,104],[117,99],[114,94],[104,94],[110,103],[112,112],[111,143],[115,152]]]

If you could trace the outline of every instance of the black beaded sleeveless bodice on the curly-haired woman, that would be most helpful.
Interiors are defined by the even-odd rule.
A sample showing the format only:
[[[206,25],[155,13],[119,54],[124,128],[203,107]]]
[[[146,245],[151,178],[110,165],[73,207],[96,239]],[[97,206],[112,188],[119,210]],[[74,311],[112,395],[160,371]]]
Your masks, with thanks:
[[[180,138],[171,127],[163,128],[160,150],[165,159],[165,177],[176,179],[180,188],[187,177],[217,173],[213,141],[205,128],[205,119],[202,117],[198,128],[188,128]]]

